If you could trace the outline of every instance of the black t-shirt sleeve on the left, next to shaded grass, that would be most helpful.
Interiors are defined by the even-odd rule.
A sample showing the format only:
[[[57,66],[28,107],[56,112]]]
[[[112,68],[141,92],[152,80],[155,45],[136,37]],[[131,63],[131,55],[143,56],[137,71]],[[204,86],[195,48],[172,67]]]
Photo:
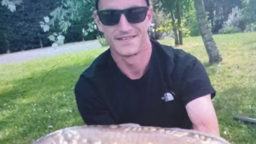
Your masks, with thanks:
[[[81,75],[75,85],[77,108],[87,125],[114,124],[107,107],[99,97],[94,86]]]

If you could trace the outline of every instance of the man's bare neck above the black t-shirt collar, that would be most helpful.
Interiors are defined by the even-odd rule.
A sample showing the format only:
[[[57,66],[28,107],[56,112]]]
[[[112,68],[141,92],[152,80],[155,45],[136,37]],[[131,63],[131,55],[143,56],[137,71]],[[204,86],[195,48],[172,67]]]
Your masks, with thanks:
[[[152,52],[151,44],[148,43],[138,54],[128,58],[123,58],[117,54],[112,55],[118,68],[130,79],[139,79],[145,74]]]

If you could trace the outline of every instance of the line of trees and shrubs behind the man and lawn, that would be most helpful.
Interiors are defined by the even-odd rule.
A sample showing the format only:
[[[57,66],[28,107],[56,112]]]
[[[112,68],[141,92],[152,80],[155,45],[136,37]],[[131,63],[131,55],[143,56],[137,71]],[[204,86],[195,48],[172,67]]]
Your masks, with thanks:
[[[94,0],[1,0],[0,54],[63,43],[99,39],[92,12]],[[151,38],[202,36],[210,62],[221,56],[212,34],[256,31],[256,0],[150,0],[154,5]],[[209,43],[210,42],[210,43]],[[211,53],[215,53],[211,55]]]

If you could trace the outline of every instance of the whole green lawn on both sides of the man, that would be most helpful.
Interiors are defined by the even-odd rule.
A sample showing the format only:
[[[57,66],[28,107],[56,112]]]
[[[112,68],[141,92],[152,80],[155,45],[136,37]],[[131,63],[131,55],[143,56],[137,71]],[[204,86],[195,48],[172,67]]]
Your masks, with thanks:
[[[185,38],[179,48],[205,63],[218,91],[214,101],[221,136],[234,144],[255,143],[256,129],[234,122],[235,114],[256,118],[256,34],[214,36],[223,57],[207,66],[201,37]],[[173,39],[160,41],[173,44]],[[82,125],[73,86],[105,49],[0,66],[0,143],[27,144],[52,131]]]

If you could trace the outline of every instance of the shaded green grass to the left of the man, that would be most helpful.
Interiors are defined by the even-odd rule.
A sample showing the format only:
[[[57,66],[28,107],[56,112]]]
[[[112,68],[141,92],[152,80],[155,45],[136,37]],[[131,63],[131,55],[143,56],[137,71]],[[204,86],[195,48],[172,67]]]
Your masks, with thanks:
[[[27,144],[54,130],[82,125],[73,87],[87,66],[56,66],[10,81],[12,87],[0,93],[0,143]]]

